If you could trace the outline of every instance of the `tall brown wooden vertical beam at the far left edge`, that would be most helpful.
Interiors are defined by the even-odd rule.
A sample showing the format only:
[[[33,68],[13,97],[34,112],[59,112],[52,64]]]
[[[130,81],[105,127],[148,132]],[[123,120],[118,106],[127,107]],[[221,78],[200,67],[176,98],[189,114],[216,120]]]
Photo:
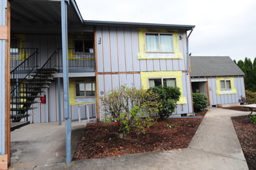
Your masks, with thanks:
[[[5,43],[5,153],[8,158],[8,165],[11,164],[11,121],[10,121],[10,100],[11,100],[11,5],[6,8],[7,41]]]

